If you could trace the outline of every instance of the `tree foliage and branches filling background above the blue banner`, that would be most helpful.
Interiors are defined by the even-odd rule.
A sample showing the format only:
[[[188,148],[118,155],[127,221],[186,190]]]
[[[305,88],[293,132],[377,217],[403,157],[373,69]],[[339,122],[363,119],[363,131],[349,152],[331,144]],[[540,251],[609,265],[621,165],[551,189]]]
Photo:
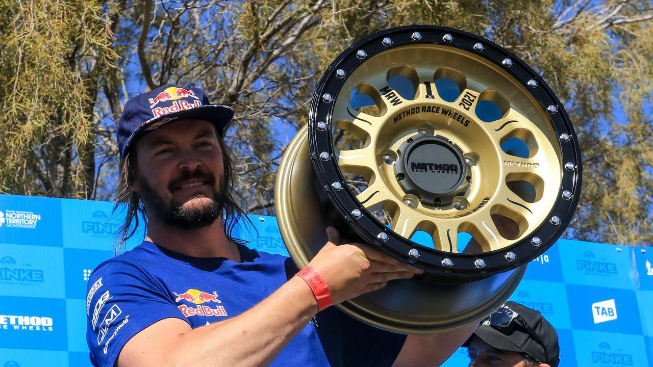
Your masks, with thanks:
[[[240,157],[238,184],[251,210],[274,214],[279,157],[308,120],[315,84],[331,61],[375,31],[434,24],[476,33],[517,54],[565,104],[584,168],[567,236],[653,244],[650,1],[101,5],[0,1],[2,191],[110,198],[117,174],[110,132],[122,103],[176,82],[234,106],[228,138]]]

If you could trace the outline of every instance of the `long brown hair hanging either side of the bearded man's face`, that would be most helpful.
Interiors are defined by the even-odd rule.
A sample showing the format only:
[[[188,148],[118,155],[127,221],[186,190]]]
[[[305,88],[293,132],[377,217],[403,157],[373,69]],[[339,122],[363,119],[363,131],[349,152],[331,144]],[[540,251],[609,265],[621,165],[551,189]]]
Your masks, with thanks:
[[[225,236],[227,236],[228,240],[236,242],[237,244],[244,244],[247,241],[232,236],[236,223],[242,219],[246,219],[251,227],[253,227],[249,217],[247,217],[242,207],[238,205],[239,201],[244,202],[244,198],[234,189],[236,157],[217,133],[217,130],[215,133],[220,140],[219,145],[222,150],[222,159],[225,167],[224,184],[226,186],[225,193],[227,195],[225,195],[225,202],[221,203],[223,204],[223,229],[225,230]],[[136,234],[141,223],[145,228],[148,227],[148,215],[145,212],[145,206],[143,205],[140,193],[131,189],[136,178],[136,173],[136,150],[132,146],[127,150],[127,152],[125,152],[125,157],[123,157],[120,163],[118,183],[116,184],[117,192],[116,199],[114,200],[116,204],[114,205],[112,215],[116,215],[116,212],[122,212],[125,209],[127,210],[125,219],[118,228],[114,238],[114,251],[116,253],[121,252],[123,244]]]

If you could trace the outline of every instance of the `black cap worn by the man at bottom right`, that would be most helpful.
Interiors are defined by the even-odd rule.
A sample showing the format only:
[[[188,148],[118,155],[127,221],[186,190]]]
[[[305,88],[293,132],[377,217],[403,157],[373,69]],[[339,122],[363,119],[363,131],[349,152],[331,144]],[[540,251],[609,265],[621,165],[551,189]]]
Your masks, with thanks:
[[[489,319],[485,319],[463,346],[469,347],[471,339],[477,337],[496,349],[526,353],[526,355],[538,362],[558,367],[560,363],[560,345],[558,345],[556,329],[542,317],[539,311],[515,302],[505,302],[502,307],[506,306],[524,319],[531,330],[537,334],[536,338],[539,338],[544,345],[539,343],[526,328],[515,320],[506,327],[494,327],[490,325]]]

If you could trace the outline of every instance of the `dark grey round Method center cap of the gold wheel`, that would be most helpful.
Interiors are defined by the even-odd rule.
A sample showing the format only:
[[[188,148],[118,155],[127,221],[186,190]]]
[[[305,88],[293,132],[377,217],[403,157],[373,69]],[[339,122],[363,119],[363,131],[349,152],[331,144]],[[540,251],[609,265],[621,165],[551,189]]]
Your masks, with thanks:
[[[442,136],[415,135],[400,146],[399,153],[395,173],[406,193],[424,204],[451,204],[451,194],[466,176],[460,148]]]

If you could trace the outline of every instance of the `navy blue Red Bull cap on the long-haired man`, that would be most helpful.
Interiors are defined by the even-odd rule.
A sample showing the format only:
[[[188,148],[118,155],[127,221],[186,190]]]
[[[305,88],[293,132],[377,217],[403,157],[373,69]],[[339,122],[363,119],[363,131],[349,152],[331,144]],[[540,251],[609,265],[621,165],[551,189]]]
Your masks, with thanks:
[[[118,121],[120,158],[141,136],[166,123],[178,120],[205,120],[215,125],[219,135],[234,117],[234,110],[224,104],[211,104],[199,88],[175,84],[153,89],[129,99]]]

